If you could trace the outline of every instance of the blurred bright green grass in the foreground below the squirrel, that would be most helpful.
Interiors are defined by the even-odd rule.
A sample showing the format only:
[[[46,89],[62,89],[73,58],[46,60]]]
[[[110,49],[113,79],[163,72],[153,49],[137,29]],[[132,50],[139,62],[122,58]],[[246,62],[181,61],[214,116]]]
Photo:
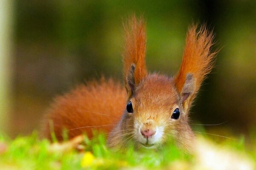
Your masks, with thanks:
[[[55,149],[46,139],[39,140],[37,132],[30,136],[19,136],[10,140],[0,135],[0,169],[8,170],[82,170],[82,169],[188,169],[195,167],[195,156],[184,153],[174,144],[159,150],[139,150],[128,147],[115,152],[106,147],[106,137],[100,134],[93,140],[84,137],[84,148]],[[227,139],[223,144],[233,150],[249,153],[256,161],[256,154],[244,147],[244,140],[232,142]],[[223,145],[222,144],[222,145]]]

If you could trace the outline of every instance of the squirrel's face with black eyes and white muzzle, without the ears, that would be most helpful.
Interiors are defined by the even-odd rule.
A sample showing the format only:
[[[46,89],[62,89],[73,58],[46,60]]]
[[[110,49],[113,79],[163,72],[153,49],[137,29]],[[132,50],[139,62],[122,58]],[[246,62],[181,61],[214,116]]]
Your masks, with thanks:
[[[179,133],[193,134],[186,127],[188,118],[182,100],[173,78],[152,74],[143,79],[128,100],[125,113],[132,118],[136,145],[154,148]]]

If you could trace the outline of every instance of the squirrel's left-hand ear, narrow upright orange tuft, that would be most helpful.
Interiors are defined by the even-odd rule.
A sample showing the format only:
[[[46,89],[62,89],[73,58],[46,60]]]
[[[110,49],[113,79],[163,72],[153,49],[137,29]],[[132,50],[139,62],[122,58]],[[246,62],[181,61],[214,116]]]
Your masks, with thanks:
[[[147,75],[145,65],[145,23],[143,17],[138,20],[133,15],[125,28],[125,52],[123,54],[124,80],[128,98],[134,94],[136,85]]]

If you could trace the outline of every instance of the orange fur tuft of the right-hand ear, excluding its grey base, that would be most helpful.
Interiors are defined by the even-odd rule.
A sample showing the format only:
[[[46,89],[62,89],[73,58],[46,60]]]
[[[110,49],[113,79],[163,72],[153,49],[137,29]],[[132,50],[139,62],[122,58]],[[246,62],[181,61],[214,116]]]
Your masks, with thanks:
[[[217,52],[211,52],[213,45],[212,32],[207,31],[205,26],[202,26],[197,32],[197,25],[189,28],[186,36],[186,46],[183,53],[183,58],[175,77],[175,84],[178,92],[181,92],[186,80],[186,74],[191,73],[195,77],[195,93],[199,90],[204,77],[212,70],[213,59]]]

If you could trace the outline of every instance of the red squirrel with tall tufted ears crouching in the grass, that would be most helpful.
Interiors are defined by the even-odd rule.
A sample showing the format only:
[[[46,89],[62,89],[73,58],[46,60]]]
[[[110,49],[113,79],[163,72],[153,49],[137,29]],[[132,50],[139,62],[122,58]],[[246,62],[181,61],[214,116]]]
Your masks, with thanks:
[[[145,65],[145,22],[132,16],[125,26],[123,78],[125,87],[112,79],[79,85],[55,99],[44,124],[58,140],[67,130],[69,139],[92,130],[108,133],[107,145],[124,148],[154,148],[168,142],[193,150],[194,133],[189,126],[189,109],[212,69],[216,51],[211,51],[213,34],[205,26],[192,25],[186,35],[181,66],[176,76],[149,74]]]

